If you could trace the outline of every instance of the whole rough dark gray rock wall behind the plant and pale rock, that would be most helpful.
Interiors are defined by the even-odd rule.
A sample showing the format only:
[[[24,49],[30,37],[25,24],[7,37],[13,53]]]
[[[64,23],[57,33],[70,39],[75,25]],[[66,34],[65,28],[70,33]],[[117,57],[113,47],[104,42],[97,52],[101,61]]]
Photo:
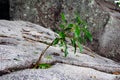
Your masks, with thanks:
[[[10,0],[10,3],[12,19],[31,21],[53,30],[58,29],[61,12],[70,21],[77,11],[93,34],[93,42],[87,46],[97,54],[120,61],[120,28],[119,19],[113,16],[114,0]]]

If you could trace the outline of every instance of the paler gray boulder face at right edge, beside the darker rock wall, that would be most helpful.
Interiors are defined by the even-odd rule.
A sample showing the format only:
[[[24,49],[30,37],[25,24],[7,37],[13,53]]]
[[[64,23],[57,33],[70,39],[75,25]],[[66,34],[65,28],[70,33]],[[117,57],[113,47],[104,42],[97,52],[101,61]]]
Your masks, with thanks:
[[[115,61],[120,61],[120,20],[111,17],[99,41],[99,53]]]

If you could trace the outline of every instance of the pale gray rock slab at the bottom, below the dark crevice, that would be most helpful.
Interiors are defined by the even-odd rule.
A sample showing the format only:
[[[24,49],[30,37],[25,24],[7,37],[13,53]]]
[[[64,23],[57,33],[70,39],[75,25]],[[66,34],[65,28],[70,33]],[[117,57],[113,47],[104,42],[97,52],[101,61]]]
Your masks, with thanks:
[[[49,69],[26,69],[0,77],[0,80],[120,80],[120,76],[91,68],[56,64]]]

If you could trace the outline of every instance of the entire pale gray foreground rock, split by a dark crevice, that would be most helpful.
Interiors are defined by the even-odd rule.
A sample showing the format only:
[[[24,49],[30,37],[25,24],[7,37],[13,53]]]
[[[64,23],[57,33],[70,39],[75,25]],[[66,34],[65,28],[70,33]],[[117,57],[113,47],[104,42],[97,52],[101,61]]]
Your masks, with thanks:
[[[120,63],[101,57],[85,46],[82,53],[77,49],[76,54],[69,46],[67,57],[59,45],[51,46],[41,62],[53,66],[31,69],[56,35],[50,29],[30,22],[0,20],[0,80],[120,79]]]

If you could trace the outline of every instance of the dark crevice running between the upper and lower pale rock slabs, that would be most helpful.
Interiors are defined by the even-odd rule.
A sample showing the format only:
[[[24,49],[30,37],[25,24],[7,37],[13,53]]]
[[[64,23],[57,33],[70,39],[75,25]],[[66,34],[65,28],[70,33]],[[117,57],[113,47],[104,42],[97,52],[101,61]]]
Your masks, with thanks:
[[[74,63],[67,63],[67,62],[63,62],[63,61],[53,61],[53,62],[47,63],[47,64],[50,64],[51,67],[52,67],[52,66],[56,65],[57,63],[68,64],[68,65],[77,66],[77,67],[91,68],[91,69],[94,69],[94,70],[97,70],[97,71],[100,71],[100,72],[103,72],[103,73],[107,73],[107,74],[113,74],[114,73],[112,71],[105,71],[105,70],[98,69],[94,66],[88,66],[88,65],[85,65],[85,64],[84,65],[79,65],[79,64],[77,65],[77,64],[74,64]],[[96,66],[100,66],[100,65],[96,65]],[[108,67],[108,66],[105,66],[105,67]],[[12,67],[12,68],[8,68],[6,70],[0,71],[0,76],[10,74],[12,72],[22,71],[22,70],[25,70],[25,69],[35,69],[34,68],[34,63],[31,63],[28,66]],[[40,69],[40,68],[36,68],[36,69]],[[117,74],[114,74],[114,75],[117,75]]]

